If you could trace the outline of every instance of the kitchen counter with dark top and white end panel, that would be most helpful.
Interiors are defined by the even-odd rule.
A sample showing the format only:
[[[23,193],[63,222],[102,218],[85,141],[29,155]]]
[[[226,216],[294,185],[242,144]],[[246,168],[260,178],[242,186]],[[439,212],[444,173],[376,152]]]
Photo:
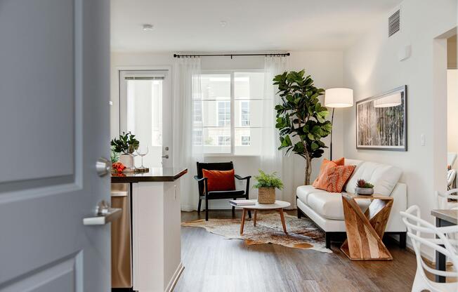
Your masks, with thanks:
[[[112,192],[127,194],[123,208],[130,220],[124,224],[128,234],[124,242],[131,246],[125,268],[132,281],[116,288],[172,291],[184,269],[180,180],[186,173],[186,168],[168,167],[150,168],[145,173],[112,173]]]

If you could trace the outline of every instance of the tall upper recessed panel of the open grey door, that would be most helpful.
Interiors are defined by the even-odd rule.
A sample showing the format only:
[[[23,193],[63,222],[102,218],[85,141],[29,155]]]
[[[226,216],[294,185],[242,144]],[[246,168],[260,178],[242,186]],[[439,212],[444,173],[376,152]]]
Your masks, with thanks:
[[[74,7],[70,0],[55,2],[0,4],[0,36],[8,40],[0,49],[0,124],[11,141],[4,146],[10,155],[2,157],[8,167],[0,168],[0,183],[73,175]],[[27,17],[18,19],[20,13]],[[59,142],[50,143],[55,137]],[[30,164],[41,165],[40,171]]]

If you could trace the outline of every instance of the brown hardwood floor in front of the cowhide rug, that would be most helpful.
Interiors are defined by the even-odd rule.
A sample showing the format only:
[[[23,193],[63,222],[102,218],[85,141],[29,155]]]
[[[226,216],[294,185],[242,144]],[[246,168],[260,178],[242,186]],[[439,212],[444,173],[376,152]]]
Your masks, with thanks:
[[[287,211],[296,215],[296,211]],[[231,218],[231,211],[210,211],[210,218]],[[237,218],[241,217],[236,212]],[[182,212],[181,220],[204,218]],[[409,251],[386,242],[393,261],[352,262],[341,253],[320,253],[276,244],[247,246],[204,228],[181,227],[185,270],[174,291],[410,291],[417,267]]]

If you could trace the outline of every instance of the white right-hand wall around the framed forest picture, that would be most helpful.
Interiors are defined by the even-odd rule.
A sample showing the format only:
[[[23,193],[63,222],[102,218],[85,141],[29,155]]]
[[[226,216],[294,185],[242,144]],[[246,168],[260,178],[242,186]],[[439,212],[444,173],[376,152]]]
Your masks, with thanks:
[[[388,39],[387,19],[370,29],[343,54],[344,85],[354,89],[355,100],[407,84],[407,152],[356,150],[355,107],[343,117],[345,157],[392,164],[403,169],[407,204],[417,204],[422,216],[436,206],[433,192],[445,188],[446,41],[435,39],[457,24],[457,1],[405,0],[402,31]],[[388,15],[387,15],[388,16]],[[398,51],[412,46],[412,56],[400,62]],[[426,135],[421,146],[420,136]]]

